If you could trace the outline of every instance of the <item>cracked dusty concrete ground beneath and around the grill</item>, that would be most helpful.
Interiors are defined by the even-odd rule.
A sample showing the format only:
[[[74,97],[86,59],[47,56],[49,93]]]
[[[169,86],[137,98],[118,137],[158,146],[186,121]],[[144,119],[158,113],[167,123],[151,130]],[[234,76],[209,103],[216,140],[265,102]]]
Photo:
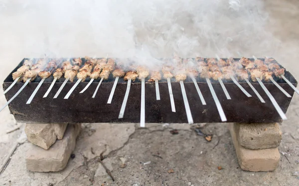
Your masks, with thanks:
[[[265,3],[265,11],[270,15],[268,28],[282,41],[273,57],[299,79],[299,2],[266,0]],[[4,21],[17,23],[20,19],[10,16]],[[0,82],[21,58],[34,55],[21,46],[21,31],[14,36],[3,31],[5,29],[1,28],[1,36],[4,34],[7,37],[0,41]],[[4,96],[0,96],[0,105],[4,103]],[[197,136],[186,124],[147,124],[146,128],[139,128],[135,124],[84,124],[74,151],[76,157],[70,159],[65,170],[33,173],[25,167],[24,157],[29,142],[23,133],[24,126],[15,124],[5,108],[0,112],[0,166],[15,144],[20,145],[0,175],[0,185],[88,186],[93,183],[103,186],[188,186],[190,182],[194,186],[296,186],[299,185],[298,95],[294,96],[287,117],[288,120],[281,124],[281,161],[274,172],[242,171],[227,125],[214,123],[202,128],[202,131],[214,135],[210,143]],[[13,129],[17,130],[7,133]],[[171,129],[178,129],[179,133],[172,135],[169,132]],[[107,157],[104,163],[112,170],[115,182],[105,174],[97,161],[101,153]],[[87,165],[84,164],[84,157],[87,158]],[[126,167],[121,168],[122,164],[126,164]],[[219,171],[218,166],[223,169]],[[167,172],[170,169],[173,169],[173,173]]]

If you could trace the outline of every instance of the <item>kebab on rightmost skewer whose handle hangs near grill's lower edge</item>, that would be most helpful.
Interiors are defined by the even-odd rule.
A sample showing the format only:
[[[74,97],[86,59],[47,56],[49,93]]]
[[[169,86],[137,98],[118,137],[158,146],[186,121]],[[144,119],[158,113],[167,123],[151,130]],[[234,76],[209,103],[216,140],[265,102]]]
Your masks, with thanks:
[[[256,63],[258,63],[258,62],[259,61],[256,61]],[[250,64],[250,65],[254,66],[255,63]],[[287,116],[285,115],[285,113],[280,108],[280,106],[278,105],[278,103],[276,102],[276,100],[274,99],[274,97],[272,96],[272,94],[269,92],[269,90],[266,88],[266,86],[262,82],[263,79],[269,80],[269,78],[272,77],[272,74],[271,73],[265,73],[265,72],[261,71],[258,68],[251,68],[249,70],[249,73],[250,73],[250,76],[251,76],[251,80],[253,82],[258,81],[258,83],[261,85],[261,87],[263,88],[263,90],[265,91],[265,93],[267,94],[267,96],[270,98],[270,101],[272,102],[273,106],[275,107],[275,109],[277,110],[277,112],[281,116],[281,118],[283,120],[287,120]]]

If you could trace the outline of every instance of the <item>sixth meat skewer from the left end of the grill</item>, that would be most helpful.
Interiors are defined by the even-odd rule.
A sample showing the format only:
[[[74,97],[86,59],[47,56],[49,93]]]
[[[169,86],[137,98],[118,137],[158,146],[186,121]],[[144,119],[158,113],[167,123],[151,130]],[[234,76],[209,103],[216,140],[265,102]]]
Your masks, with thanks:
[[[72,92],[75,90],[75,88],[78,86],[78,84],[82,81],[84,82],[87,77],[91,75],[91,70],[93,66],[96,63],[96,59],[92,59],[90,57],[85,57],[87,60],[84,65],[79,69],[79,72],[77,73],[77,82],[73,85],[73,87],[68,91],[68,93],[65,95],[64,99],[68,99]]]

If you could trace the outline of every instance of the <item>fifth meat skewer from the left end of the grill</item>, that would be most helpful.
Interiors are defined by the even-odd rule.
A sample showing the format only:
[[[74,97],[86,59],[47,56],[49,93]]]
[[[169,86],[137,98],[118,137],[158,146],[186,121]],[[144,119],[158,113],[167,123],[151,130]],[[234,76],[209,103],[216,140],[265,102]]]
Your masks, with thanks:
[[[63,87],[65,86],[65,84],[68,82],[68,80],[70,80],[70,82],[74,81],[74,78],[76,77],[78,70],[80,69],[80,66],[82,64],[82,59],[80,57],[78,58],[74,58],[72,60],[72,67],[71,69],[68,69],[64,72],[64,82],[62,83],[62,85],[60,86],[60,88],[58,89],[58,91],[56,92],[54,98],[57,98],[60,94],[60,92],[62,91]],[[70,66],[70,63],[67,64],[68,66]]]

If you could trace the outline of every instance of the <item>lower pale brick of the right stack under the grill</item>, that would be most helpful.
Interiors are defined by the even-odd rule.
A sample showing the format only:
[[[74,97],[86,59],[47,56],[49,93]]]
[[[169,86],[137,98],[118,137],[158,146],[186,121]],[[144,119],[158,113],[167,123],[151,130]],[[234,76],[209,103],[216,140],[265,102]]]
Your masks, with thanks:
[[[234,124],[229,124],[229,130],[241,169],[252,172],[267,172],[274,171],[277,168],[280,160],[278,148],[259,150],[245,149],[237,140]]]

